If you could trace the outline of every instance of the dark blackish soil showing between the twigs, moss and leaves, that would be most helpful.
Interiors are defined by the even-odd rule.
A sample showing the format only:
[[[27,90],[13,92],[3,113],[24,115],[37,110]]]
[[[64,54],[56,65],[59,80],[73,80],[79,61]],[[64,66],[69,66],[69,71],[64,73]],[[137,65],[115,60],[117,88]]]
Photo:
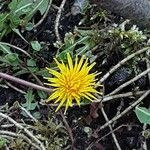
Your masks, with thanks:
[[[57,5],[57,3],[56,3]],[[69,16],[66,16],[70,12],[70,7],[72,5],[72,1],[67,1],[61,20],[60,20],[60,28],[59,32],[61,35],[61,39],[63,40],[65,33],[69,31],[73,31],[75,26],[78,26],[78,23],[83,18],[82,15],[72,16],[71,14]],[[47,15],[47,18],[44,20],[44,22],[34,31],[32,32],[25,32],[23,33],[24,37],[28,39],[29,41],[31,39],[36,39],[38,41],[42,41],[47,43],[47,47],[45,47],[44,51],[40,51],[38,53],[38,58],[42,57],[44,58],[45,62],[43,63],[42,59],[38,60],[39,67],[44,68],[47,66],[47,63],[52,62],[53,57],[56,54],[56,48],[53,46],[53,43],[56,41],[55,33],[54,33],[54,21],[56,17],[57,10],[54,8],[50,9],[49,14]],[[41,16],[40,16],[41,17]],[[38,21],[40,19],[39,14],[35,15],[35,21]],[[117,17],[114,17],[115,19]],[[115,20],[114,19],[114,20]],[[118,20],[118,19],[117,19]],[[85,24],[84,26],[90,26],[90,23]],[[100,22],[99,25],[103,25],[102,22]],[[100,28],[100,26],[99,26]],[[10,42],[16,46],[19,47],[27,47],[26,43],[22,39],[20,39],[16,35],[10,34],[8,36],[9,38],[6,38],[6,42]],[[115,57],[115,59],[114,59]],[[37,59],[38,59],[37,58]],[[112,66],[117,64],[120,60],[122,60],[122,55],[118,53],[112,53],[107,58],[107,61],[105,64],[96,67],[98,70],[103,70],[104,72],[107,72]],[[41,63],[42,62],[42,63]],[[97,59],[97,64],[101,62],[101,59]],[[139,65],[140,66],[140,65]],[[141,67],[143,68],[143,67]],[[113,91],[116,87],[120,86],[121,84],[125,83],[129,79],[131,79],[134,75],[131,73],[128,73],[128,67],[123,66],[120,68],[117,72],[115,72],[106,82],[105,82],[105,89],[108,89],[105,91],[105,94],[110,93]],[[26,76],[22,76],[22,78],[26,78]],[[149,87],[147,76],[141,78],[135,85],[131,85],[124,89],[124,92],[129,92],[132,90],[132,86],[140,85],[139,87],[141,90],[146,90]],[[0,105],[4,105],[5,103],[8,103],[10,106],[13,105],[15,101],[23,101],[24,96],[23,94],[20,94],[19,92],[8,88],[0,88]],[[118,111],[122,112],[125,108],[127,108],[131,102],[133,102],[134,99],[128,98],[128,99],[118,99],[117,101],[105,103],[104,109],[108,115],[108,118],[113,118]],[[144,101],[143,106],[148,106],[148,98],[146,101]],[[42,107],[42,106],[41,106]],[[101,107],[101,106],[99,106]],[[120,109],[120,110],[119,110]],[[44,109],[43,109],[44,110]],[[94,143],[97,139],[100,139],[104,135],[110,132],[109,128],[106,128],[100,132],[97,132],[96,130],[102,126],[105,123],[105,119],[100,111],[100,109],[97,109],[96,113],[97,116],[94,118],[94,116],[91,116],[90,111],[92,111],[92,107],[90,105],[83,106],[81,108],[70,108],[67,113],[67,121],[70,125],[70,128],[73,132],[74,136],[74,147],[76,150],[86,150],[86,148],[93,143],[93,147],[91,150],[116,150],[112,135],[109,134],[108,136],[101,139],[98,143]],[[42,111],[41,111],[42,113]],[[46,114],[45,112],[43,113]],[[113,124],[113,128],[120,127],[118,130],[116,130],[115,135],[118,139],[118,142],[122,148],[122,150],[142,150],[142,144],[145,140],[142,136],[142,124],[139,123],[137,117],[135,116],[135,113],[131,111],[121,119],[119,119],[117,122]],[[92,134],[88,136],[88,134],[84,131],[85,127],[89,127],[92,130]],[[150,140],[147,140],[147,146],[148,149],[150,149]]]

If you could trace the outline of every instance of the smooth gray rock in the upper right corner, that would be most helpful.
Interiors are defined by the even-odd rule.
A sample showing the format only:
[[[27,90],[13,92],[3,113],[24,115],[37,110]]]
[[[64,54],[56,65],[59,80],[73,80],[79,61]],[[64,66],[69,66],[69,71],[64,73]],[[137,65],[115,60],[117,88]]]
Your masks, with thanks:
[[[150,0],[91,0],[101,8],[111,11],[133,24],[150,28]]]

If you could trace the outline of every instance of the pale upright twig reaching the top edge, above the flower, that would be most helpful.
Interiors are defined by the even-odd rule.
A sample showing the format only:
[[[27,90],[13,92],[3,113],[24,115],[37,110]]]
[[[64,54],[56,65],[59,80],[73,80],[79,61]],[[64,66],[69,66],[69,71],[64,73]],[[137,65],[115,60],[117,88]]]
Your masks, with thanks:
[[[59,35],[59,21],[60,21],[61,13],[62,13],[65,3],[66,3],[66,0],[62,0],[62,3],[59,7],[56,20],[55,20],[55,35],[56,35],[57,41],[59,42],[61,42],[60,35]]]

